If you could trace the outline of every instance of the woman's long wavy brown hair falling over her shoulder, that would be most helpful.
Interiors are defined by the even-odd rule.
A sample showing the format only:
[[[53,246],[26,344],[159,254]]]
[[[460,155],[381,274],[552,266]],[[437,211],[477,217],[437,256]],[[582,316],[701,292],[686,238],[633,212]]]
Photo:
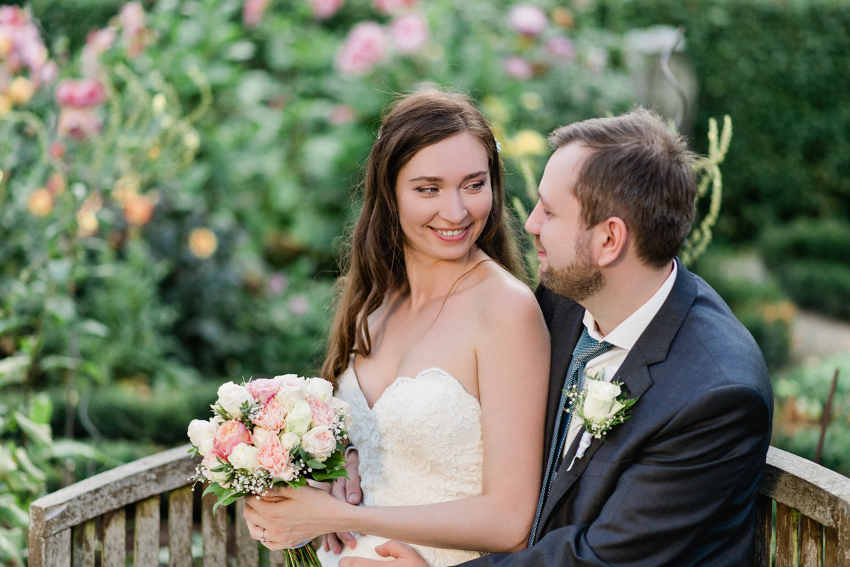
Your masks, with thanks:
[[[382,118],[363,181],[363,208],[348,242],[337,297],[336,316],[321,376],[336,384],[352,353],[368,356],[368,316],[390,290],[407,283],[404,235],[399,224],[395,185],[399,171],[416,152],[457,133],[479,139],[489,154],[493,206],[477,246],[517,273],[519,261],[505,219],[502,169],[496,139],[484,115],[464,94],[428,89],[396,101]]]

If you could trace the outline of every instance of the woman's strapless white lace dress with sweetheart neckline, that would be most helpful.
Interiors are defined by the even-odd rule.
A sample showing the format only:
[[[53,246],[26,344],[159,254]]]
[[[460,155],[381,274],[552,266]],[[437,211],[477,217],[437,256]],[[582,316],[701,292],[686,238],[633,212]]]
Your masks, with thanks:
[[[440,368],[398,377],[370,408],[354,365],[339,379],[335,394],[351,404],[348,434],[360,455],[365,506],[432,504],[479,496],[484,444],[481,405],[457,379]],[[374,547],[387,541],[359,536],[354,550],[335,555],[319,550],[323,567],[347,556],[380,558]],[[432,567],[456,565],[482,553],[413,546]]]

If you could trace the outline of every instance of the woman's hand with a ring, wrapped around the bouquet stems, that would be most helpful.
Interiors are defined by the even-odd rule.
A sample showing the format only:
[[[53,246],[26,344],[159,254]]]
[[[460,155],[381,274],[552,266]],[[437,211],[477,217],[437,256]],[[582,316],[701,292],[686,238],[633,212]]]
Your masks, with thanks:
[[[262,499],[245,497],[246,519],[251,536],[269,549],[295,547],[333,529],[341,502],[324,490],[302,486],[269,490]]]

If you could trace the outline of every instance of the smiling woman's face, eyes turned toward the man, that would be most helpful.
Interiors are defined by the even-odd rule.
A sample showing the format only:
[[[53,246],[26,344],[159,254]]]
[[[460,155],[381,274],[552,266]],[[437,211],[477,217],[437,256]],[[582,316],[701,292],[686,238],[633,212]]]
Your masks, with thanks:
[[[399,171],[395,193],[405,252],[463,258],[484,230],[493,191],[487,150],[457,133],[419,150]]]

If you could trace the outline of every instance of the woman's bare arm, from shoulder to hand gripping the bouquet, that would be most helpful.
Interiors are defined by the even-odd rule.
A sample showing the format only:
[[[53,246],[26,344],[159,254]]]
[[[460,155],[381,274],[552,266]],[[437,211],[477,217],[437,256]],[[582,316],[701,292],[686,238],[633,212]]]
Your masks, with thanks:
[[[549,335],[527,290],[508,290],[482,311],[473,329],[480,335],[481,496],[422,506],[354,507],[314,490],[285,490],[287,502],[246,499],[249,526],[257,526],[258,534],[265,528],[268,541],[288,544],[327,532],[360,531],[432,547],[490,552],[525,547],[540,490]]]

